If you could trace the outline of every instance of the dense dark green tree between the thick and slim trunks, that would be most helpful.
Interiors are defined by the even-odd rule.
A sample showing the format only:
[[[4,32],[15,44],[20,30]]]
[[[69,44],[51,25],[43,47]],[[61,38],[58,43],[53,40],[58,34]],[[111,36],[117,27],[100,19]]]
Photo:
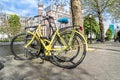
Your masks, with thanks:
[[[84,32],[88,36],[92,30],[96,36],[100,33],[99,25],[95,20],[95,17],[92,16],[91,18],[89,15],[84,17]]]

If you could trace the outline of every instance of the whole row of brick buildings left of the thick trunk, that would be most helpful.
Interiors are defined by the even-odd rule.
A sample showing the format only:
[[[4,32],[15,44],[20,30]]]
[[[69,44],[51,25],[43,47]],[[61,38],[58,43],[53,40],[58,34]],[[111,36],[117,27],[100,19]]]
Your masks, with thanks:
[[[70,11],[68,9],[66,9],[64,6],[62,5],[55,5],[55,4],[51,4],[47,7],[44,7],[44,5],[42,4],[41,0],[39,0],[38,3],[38,15],[50,15],[54,18],[54,22],[55,25],[58,28],[62,28],[65,26],[70,26],[72,24],[72,18],[71,18],[71,14]],[[9,19],[9,14],[0,14],[0,26],[8,26],[8,19]],[[24,17],[24,16],[19,16],[20,17],[20,22],[22,25],[22,29],[24,29],[24,27],[27,26],[33,26],[33,25],[37,25],[36,21],[39,21],[39,19],[35,19],[35,20],[28,20],[29,17]],[[69,23],[68,24],[60,24],[58,22],[59,18],[68,18]],[[49,33],[48,31],[48,26],[43,27],[42,28],[42,32],[44,34],[44,36],[47,36]]]

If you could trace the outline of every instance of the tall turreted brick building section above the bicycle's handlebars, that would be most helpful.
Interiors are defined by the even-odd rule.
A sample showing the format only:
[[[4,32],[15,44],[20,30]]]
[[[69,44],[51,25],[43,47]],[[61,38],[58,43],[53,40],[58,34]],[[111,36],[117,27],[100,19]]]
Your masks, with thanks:
[[[58,23],[57,20],[59,18],[62,18],[62,17],[66,17],[69,20],[69,23],[66,24],[66,26],[69,26],[72,24],[72,21],[71,21],[72,18],[71,18],[70,11],[68,9],[66,9],[63,5],[51,4],[51,5],[44,8],[42,1],[39,0],[39,2],[38,2],[38,14],[43,15],[44,13],[54,17],[54,20],[55,20],[57,27],[61,26],[61,24]]]

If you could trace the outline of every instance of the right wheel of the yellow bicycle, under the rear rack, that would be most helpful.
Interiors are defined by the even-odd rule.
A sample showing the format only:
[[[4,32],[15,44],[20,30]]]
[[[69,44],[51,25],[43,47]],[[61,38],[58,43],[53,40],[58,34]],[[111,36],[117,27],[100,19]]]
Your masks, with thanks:
[[[64,38],[66,44],[69,43],[72,31],[65,31],[61,33],[61,36]],[[78,33],[75,33],[72,44],[68,49],[63,51],[54,51],[52,62],[62,68],[75,68],[77,67],[85,58],[86,55],[86,46],[84,39]],[[56,39],[53,44],[53,48],[56,46],[63,46],[60,39]],[[54,54],[58,55],[54,55]]]

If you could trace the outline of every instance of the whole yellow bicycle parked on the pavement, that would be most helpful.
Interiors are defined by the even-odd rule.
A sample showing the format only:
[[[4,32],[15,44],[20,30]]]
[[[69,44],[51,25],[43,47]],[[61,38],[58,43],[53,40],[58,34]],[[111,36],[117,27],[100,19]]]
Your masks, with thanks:
[[[44,20],[48,20],[52,28],[50,19],[53,18],[44,16]],[[78,66],[85,58],[88,47],[86,39],[78,28],[52,29],[54,30],[52,35],[44,37],[41,32],[43,26],[38,24],[34,31],[28,30],[12,39],[10,48],[15,58],[24,60],[40,57],[67,69]]]

